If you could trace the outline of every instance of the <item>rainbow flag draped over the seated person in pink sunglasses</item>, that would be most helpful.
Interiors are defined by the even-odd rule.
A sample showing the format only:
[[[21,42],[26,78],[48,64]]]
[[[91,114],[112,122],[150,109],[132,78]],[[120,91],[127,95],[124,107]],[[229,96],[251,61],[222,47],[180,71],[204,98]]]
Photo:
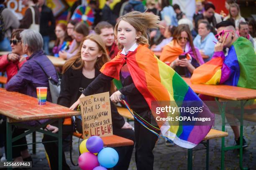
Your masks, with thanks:
[[[191,77],[194,84],[226,84],[256,89],[256,53],[250,41],[239,37],[228,55],[215,52],[212,60],[197,67]]]

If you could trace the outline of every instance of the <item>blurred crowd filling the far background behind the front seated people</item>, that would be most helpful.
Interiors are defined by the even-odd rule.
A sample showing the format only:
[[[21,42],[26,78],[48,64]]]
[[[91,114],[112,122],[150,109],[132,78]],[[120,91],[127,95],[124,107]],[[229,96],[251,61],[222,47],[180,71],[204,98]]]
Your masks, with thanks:
[[[256,21],[253,18],[246,21],[241,16],[239,5],[234,0],[225,1],[228,14],[218,14],[212,3],[197,0],[192,20],[186,17],[186,13],[182,12],[178,4],[170,5],[169,0],[147,0],[146,6],[141,0],[121,0],[115,4],[113,10],[110,8],[112,2],[113,0],[107,0],[104,7],[100,9],[98,0],[90,0],[87,5],[94,10],[95,19],[93,25],[89,27],[85,24],[81,25],[77,20],[71,20],[75,9],[81,5],[81,0],[76,1],[70,8],[67,24],[56,23],[52,10],[46,6],[45,0],[23,0],[23,5],[28,8],[22,20],[18,20],[10,9],[4,8],[4,0],[1,0],[3,6],[1,15],[3,16],[5,35],[0,41],[0,51],[11,51],[9,41],[12,30],[29,28],[40,31],[44,40],[44,52],[47,55],[68,59],[77,53],[82,37],[94,33],[95,26],[99,22],[106,21],[114,27],[119,16],[132,10],[154,13],[160,17],[161,25],[164,28],[152,29],[149,34],[153,51],[161,51],[163,46],[172,40],[172,33],[169,32],[171,29],[174,32],[174,28],[178,25],[187,24],[192,33],[195,47],[199,48],[204,60],[208,61],[213,53],[213,48],[210,48],[209,42],[213,41],[213,35],[216,34],[216,24],[222,20],[234,22],[238,36],[250,40],[253,46],[255,43],[253,38],[256,38]],[[50,43],[50,41],[55,41],[55,43]]]

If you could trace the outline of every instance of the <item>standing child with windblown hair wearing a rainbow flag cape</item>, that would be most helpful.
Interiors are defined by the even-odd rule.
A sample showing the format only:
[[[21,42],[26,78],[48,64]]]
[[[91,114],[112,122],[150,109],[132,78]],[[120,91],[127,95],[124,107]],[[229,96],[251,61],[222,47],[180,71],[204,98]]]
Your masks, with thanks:
[[[212,125],[210,122],[210,125],[205,126],[171,126],[171,122],[168,121],[156,121],[158,126],[152,125],[158,116],[151,112],[151,108],[154,107],[152,102],[198,101],[202,104],[200,98],[183,79],[148,49],[147,31],[159,27],[158,23],[158,16],[137,11],[118,18],[114,32],[118,46],[122,46],[123,50],[102,66],[101,74],[80,96],[81,98],[94,94],[97,89],[113,79],[121,80],[123,87],[113,93],[110,99],[118,102],[121,100],[120,96],[125,95],[135,114],[135,160],[138,170],[153,170],[152,151],[160,136],[160,130],[177,145],[192,148],[203,140]],[[79,102],[78,99],[70,109],[75,109]],[[214,120],[207,107],[204,107],[203,114]],[[162,115],[167,117],[167,114]],[[155,119],[151,119],[152,116]]]

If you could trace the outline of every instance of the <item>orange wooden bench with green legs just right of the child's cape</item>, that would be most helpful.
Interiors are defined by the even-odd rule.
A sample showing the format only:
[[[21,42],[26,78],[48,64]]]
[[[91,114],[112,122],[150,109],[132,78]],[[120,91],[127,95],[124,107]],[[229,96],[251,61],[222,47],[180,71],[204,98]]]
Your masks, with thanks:
[[[206,170],[209,169],[209,147],[210,147],[210,142],[209,140],[216,139],[219,137],[226,137],[228,136],[228,132],[223,132],[220,130],[216,129],[210,129],[210,132],[206,135],[204,140],[201,142],[206,146]],[[206,142],[204,142],[206,141]],[[188,157],[187,157],[187,169],[192,170],[192,155],[193,155],[193,149],[188,149]]]

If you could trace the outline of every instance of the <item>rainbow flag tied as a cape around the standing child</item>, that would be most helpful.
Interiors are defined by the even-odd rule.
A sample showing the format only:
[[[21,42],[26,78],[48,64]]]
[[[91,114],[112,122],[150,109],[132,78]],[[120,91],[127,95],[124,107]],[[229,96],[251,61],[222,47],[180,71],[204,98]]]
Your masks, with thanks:
[[[120,69],[123,64],[127,64],[133,82],[146,99],[149,108],[152,110],[152,103],[158,101],[169,101],[170,105],[182,106],[186,101],[198,101],[203,104],[194,91],[185,83],[185,81],[169,66],[160,61],[146,45],[139,45],[136,51],[128,53],[126,56],[118,53],[110,62],[105,63],[100,71],[106,76],[119,80]],[[176,103],[175,103],[176,102]],[[159,114],[152,110],[156,119]],[[186,116],[189,113],[175,112],[178,116]],[[204,107],[204,117],[210,117],[214,121],[213,114]],[[161,117],[167,117],[162,114]],[[191,115],[188,115],[191,116]],[[200,116],[193,114],[194,117]],[[161,129],[161,133],[173,140],[181,147],[193,148],[200,143],[210,131],[210,125],[184,126],[184,122],[172,126],[171,121],[156,121]]]

